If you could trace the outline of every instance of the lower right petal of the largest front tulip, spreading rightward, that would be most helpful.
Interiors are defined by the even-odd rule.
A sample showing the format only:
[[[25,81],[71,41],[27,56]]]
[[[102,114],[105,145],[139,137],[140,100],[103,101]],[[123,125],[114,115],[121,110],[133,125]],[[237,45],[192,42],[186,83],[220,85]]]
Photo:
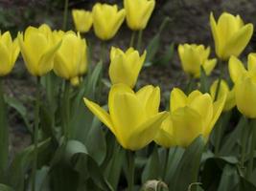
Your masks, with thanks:
[[[166,117],[168,117],[167,112],[158,113],[134,129],[128,138],[128,149],[139,150],[148,145],[155,138]]]

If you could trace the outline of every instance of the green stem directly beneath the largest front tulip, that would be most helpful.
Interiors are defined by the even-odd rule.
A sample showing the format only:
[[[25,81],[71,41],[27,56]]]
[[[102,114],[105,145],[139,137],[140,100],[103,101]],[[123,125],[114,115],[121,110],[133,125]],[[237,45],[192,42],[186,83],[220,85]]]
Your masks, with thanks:
[[[128,154],[128,191],[134,190],[134,153],[127,150]]]

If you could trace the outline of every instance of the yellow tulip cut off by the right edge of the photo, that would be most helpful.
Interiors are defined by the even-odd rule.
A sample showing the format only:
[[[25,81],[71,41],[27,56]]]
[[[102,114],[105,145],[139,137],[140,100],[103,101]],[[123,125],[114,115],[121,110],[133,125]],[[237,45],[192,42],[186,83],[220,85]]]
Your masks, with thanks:
[[[235,83],[235,97],[238,110],[249,118],[256,117],[256,53],[248,55],[247,70],[243,63],[231,56],[229,74]]]

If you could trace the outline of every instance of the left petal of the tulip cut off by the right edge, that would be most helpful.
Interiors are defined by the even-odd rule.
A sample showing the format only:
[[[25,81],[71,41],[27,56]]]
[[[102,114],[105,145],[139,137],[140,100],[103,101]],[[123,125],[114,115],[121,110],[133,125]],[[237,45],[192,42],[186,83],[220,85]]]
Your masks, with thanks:
[[[235,56],[231,56],[228,61],[228,71],[232,81],[235,83],[244,74],[244,64]]]

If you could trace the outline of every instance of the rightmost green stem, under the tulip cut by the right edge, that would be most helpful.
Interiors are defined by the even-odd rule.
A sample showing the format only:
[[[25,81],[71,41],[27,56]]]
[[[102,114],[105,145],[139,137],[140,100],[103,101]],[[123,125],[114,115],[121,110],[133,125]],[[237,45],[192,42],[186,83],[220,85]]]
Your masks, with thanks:
[[[249,152],[249,164],[248,164],[248,171],[247,171],[247,178],[250,178],[253,172],[254,166],[254,149],[256,143],[256,119],[251,120],[251,138],[250,138],[250,152]]]

